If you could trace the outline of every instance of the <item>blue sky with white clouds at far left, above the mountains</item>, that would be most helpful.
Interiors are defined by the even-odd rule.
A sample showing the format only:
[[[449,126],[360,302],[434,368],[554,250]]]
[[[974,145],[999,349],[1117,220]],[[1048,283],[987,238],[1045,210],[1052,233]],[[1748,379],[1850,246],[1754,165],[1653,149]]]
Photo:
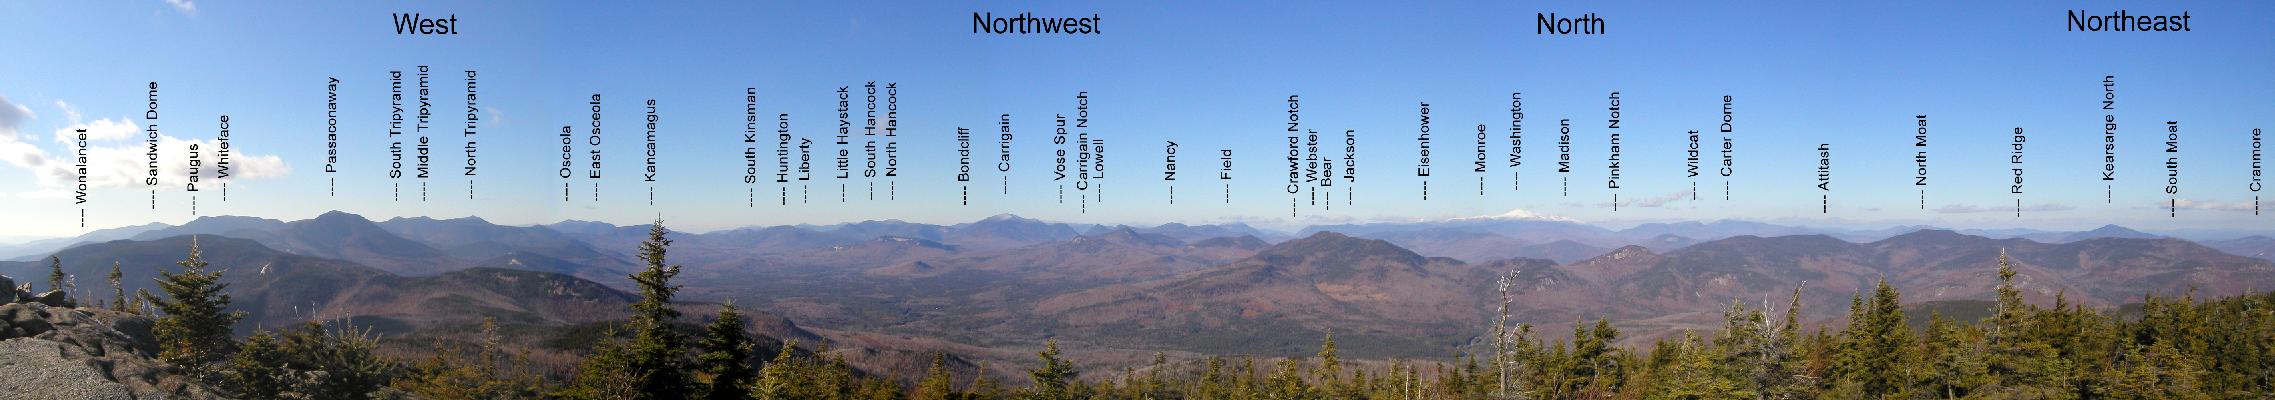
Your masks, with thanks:
[[[2066,9],[2193,16],[2195,32],[2063,32]],[[455,14],[457,36],[398,36],[391,11]],[[971,34],[971,11],[1103,16],[1103,34]],[[1538,36],[1536,11],[1606,18],[1602,36]],[[0,5],[0,236],[189,220],[191,193],[166,184],[150,209],[139,182],[148,82],[162,86],[162,134],[205,141],[232,118],[239,180],[230,198],[196,193],[200,216],[309,218],[344,209],[371,218],[564,218],[680,230],[901,218],[960,223],[1021,214],[1072,223],[1308,225],[1461,218],[1529,211],[1604,225],[1745,218],[1797,225],[2082,230],[2268,227],[2252,216],[2248,134],[2275,127],[2275,7],[2257,2],[7,2]],[[480,70],[482,134],[475,200],[462,175],[394,200],[384,177],[387,73],[435,66],[437,166],[464,161],[457,136],[466,68]],[[2100,170],[2102,75],[2118,75],[2118,182]],[[341,173],[323,173],[325,82],[344,80]],[[812,200],[776,205],[780,186],[742,184],[744,89],[760,116],[792,114],[799,136],[833,136],[837,86],[901,86],[901,177],[810,182]],[[1106,202],[1060,205],[1051,182],[1053,114],[1090,93],[1092,134],[1108,139]],[[1524,93],[1522,191],[1508,189],[1508,93]],[[1606,95],[1622,98],[1622,205],[1608,207]],[[573,180],[562,202],[557,139],[587,123],[603,93],[605,177]],[[1354,205],[1301,205],[1290,216],[1285,98],[1304,127],[1356,130]],[[1734,200],[1720,177],[1681,195],[1684,136],[1709,141],[1736,100]],[[660,102],[660,184],[639,182],[644,100]],[[855,111],[862,98],[853,98]],[[1431,105],[1431,198],[1413,177],[1417,102]],[[987,166],[999,114],[1017,132],[1010,193]],[[1931,186],[1911,186],[1913,116],[1931,118]],[[1556,120],[1574,123],[1572,193],[1558,193]],[[2159,205],[2161,123],[2182,120],[2177,218]],[[858,120],[855,120],[858,123]],[[1488,191],[1476,193],[1474,125],[1492,134]],[[111,132],[125,168],[98,168],[89,223],[57,166],[75,148],[57,132]],[[971,205],[960,205],[956,127],[974,130]],[[2029,132],[2027,211],[2007,193],[2007,141]],[[769,130],[771,136],[771,130]],[[582,130],[578,134],[582,141]],[[173,145],[175,141],[168,141]],[[1181,143],[1178,202],[1160,180],[1163,141]],[[855,139],[858,143],[858,139]],[[1834,148],[1831,211],[1818,211],[1815,145]],[[762,143],[762,152],[771,143]],[[1210,177],[1215,150],[1235,150],[1233,202]],[[576,152],[585,152],[580,143]],[[835,145],[817,148],[830,168]],[[860,155],[860,150],[853,150]],[[1324,150],[1340,157],[1340,148]],[[162,155],[177,164],[182,152]],[[207,152],[207,157],[212,157]],[[771,166],[771,152],[762,166]],[[1711,159],[1709,159],[1711,161]],[[109,175],[107,175],[109,173]],[[171,170],[168,170],[171,173]],[[125,182],[136,177],[136,182]],[[339,193],[330,195],[330,180]],[[98,180],[98,182],[105,182]],[[849,184],[849,202],[837,202]],[[207,184],[212,186],[212,184]],[[896,189],[885,200],[887,186]],[[746,207],[746,193],[760,193]],[[1345,189],[1335,189],[1338,195]],[[448,193],[448,195],[444,195]],[[792,184],[796,195],[799,186]],[[1679,200],[1674,200],[1679,198]],[[1308,198],[1306,198],[1308,200]],[[1342,202],[1338,198],[1338,202]]]

